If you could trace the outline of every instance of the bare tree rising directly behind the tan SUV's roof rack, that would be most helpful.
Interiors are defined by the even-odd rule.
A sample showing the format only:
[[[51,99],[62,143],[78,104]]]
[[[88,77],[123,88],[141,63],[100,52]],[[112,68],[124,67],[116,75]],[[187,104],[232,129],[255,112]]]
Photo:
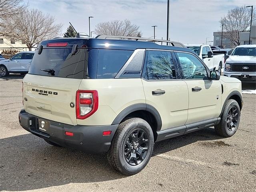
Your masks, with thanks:
[[[141,32],[139,26],[132,24],[130,20],[113,20],[96,25],[95,33],[98,35],[137,36]]]

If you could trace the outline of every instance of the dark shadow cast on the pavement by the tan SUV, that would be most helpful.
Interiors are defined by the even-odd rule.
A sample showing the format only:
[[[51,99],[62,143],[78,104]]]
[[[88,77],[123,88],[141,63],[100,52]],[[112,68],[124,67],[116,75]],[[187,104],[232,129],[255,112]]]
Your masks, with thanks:
[[[198,140],[218,138],[211,128],[186,134],[156,143],[153,156]],[[32,134],[4,138],[0,143],[0,190],[33,190],[126,177],[109,166],[105,155],[54,147]]]

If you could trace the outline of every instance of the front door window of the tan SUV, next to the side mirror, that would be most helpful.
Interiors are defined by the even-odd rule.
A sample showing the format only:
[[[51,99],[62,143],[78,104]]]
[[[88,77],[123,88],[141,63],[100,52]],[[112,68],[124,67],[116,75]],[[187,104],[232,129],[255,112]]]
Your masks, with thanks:
[[[185,79],[208,78],[205,66],[192,54],[177,53]]]

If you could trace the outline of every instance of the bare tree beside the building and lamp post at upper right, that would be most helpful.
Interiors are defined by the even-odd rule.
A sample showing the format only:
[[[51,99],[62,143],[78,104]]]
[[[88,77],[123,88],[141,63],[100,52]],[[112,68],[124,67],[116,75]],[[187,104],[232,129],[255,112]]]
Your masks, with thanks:
[[[226,38],[230,39],[232,44],[240,45],[240,32],[250,30],[251,10],[245,6],[236,7],[228,11],[228,14],[221,18],[220,24],[223,24],[223,30],[228,33]],[[252,13],[252,24],[256,24],[255,10]]]

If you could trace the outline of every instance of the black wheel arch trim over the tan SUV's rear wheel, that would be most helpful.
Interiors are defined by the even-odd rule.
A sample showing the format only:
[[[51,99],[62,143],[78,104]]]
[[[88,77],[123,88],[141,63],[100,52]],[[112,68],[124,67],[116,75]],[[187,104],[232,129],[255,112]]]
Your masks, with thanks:
[[[147,112],[150,112],[154,118],[156,119],[156,124],[157,124],[157,128],[156,130],[159,131],[162,128],[162,119],[160,114],[158,113],[158,111],[156,110],[156,108],[154,108],[153,106],[146,104],[146,103],[138,103],[138,104],[133,104],[131,106],[128,106],[127,108],[125,108],[124,110],[122,110],[118,116],[116,116],[116,118],[114,119],[114,121],[112,122],[112,125],[114,124],[120,124],[120,122],[130,113],[138,111],[138,110],[144,110]]]

